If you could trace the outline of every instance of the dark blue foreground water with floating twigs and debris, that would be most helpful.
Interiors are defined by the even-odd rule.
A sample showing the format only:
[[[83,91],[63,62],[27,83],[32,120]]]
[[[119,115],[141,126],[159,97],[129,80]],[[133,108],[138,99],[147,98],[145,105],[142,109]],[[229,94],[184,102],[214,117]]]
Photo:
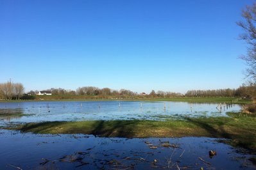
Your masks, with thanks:
[[[255,169],[251,155],[207,137],[106,138],[0,130],[0,169]],[[209,157],[209,151],[216,155]]]

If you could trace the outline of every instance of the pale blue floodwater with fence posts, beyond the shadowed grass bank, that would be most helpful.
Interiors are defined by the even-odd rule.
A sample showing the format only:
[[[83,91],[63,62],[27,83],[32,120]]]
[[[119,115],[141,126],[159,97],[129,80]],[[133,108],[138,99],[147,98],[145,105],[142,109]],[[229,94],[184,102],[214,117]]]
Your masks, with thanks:
[[[226,116],[239,105],[187,102],[24,102],[0,103],[0,125],[41,121],[166,120],[187,117]],[[5,113],[5,115],[3,115]],[[9,113],[9,116],[6,116]],[[12,113],[14,113],[12,115]],[[16,113],[16,114],[15,114]],[[24,114],[24,116],[17,114]]]

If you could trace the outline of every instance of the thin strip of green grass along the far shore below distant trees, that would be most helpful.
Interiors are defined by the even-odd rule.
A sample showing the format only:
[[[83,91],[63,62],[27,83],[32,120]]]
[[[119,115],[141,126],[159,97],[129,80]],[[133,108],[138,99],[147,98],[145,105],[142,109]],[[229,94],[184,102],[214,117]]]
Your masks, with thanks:
[[[37,96],[35,100],[0,100],[0,102],[46,102],[46,101],[145,101],[145,102],[194,102],[194,103],[233,103],[233,104],[252,104],[252,100],[243,99],[237,100],[233,97],[174,97],[174,98],[146,98],[146,97],[130,97],[130,98],[99,98],[87,97],[83,95],[52,95],[52,96]]]

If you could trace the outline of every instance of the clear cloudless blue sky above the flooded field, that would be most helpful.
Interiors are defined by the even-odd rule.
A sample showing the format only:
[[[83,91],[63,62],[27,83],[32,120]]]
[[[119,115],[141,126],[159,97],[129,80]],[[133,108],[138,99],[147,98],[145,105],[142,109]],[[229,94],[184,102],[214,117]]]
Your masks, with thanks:
[[[0,82],[26,91],[81,86],[238,88],[249,0],[0,1]]]

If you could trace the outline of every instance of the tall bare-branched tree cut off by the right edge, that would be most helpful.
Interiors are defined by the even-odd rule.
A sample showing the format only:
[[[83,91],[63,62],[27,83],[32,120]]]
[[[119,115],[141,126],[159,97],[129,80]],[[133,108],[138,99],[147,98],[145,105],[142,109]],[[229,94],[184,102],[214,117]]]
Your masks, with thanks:
[[[248,65],[246,76],[256,82],[256,3],[252,6],[246,6],[242,12],[243,21],[237,22],[237,25],[242,27],[244,33],[239,36],[240,40],[245,40],[248,44],[247,54],[242,56]]]

